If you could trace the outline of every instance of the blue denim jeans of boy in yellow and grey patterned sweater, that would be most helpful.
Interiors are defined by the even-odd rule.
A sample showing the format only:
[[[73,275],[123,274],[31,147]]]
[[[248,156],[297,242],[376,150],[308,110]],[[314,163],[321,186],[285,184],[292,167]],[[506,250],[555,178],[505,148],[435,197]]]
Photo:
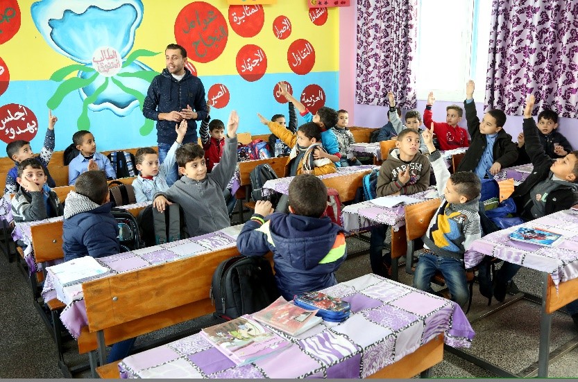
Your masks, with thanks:
[[[432,252],[425,252],[418,259],[416,273],[414,274],[414,288],[435,295],[431,280],[436,270],[439,270],[443,275],[445,284],[452,295],[452,300],[460,306],[464,306],[470,299],[464,261],[436,256]]]

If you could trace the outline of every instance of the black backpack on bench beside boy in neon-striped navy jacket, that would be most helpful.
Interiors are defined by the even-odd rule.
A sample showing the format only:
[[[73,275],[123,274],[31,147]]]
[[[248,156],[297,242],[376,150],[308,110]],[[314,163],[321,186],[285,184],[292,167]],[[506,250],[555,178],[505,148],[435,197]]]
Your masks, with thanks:
[[[226,320],[260,311],[279,296],[271,263],[264,257],[232,257],[214,271],[210,297],[215,315]]]

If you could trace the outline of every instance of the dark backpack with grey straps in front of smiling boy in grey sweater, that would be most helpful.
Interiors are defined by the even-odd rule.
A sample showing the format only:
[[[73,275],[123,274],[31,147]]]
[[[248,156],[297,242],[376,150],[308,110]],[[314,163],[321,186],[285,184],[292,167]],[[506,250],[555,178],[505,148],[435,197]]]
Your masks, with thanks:
[[[139,212],[137,221],[145,247],[189,237],[185,213],[177,203],[167,205],[163,213],[148,205]]]

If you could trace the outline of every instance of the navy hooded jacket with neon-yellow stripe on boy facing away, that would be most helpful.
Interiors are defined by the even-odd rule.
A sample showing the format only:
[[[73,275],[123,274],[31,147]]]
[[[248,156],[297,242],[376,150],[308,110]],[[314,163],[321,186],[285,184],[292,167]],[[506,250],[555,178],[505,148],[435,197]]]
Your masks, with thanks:
[[[237,248],[245,256],[273,252],[275,280],[285,299],[337,284],[334,272],[347,257],[344,231],[330,218],[255,214],[245,223]]]

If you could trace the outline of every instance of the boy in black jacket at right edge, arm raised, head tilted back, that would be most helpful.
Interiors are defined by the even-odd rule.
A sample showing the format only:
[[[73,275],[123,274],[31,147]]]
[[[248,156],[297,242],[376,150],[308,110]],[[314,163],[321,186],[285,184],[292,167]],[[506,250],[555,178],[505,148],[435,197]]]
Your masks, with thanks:
[[[520,218],[525,221],[569,209],[578,202],[578,151],[572,151],[552,163],[552,159],[545,153],[538,137],[536,122],[532,118],[535,101],[534,95],[530,95],[524,109],[522,130],[526,153],[532,159],[534,171],[511,195]],[[518,264],[504,261],[496,273],[493,295],[499,302],[504,301],[508,283],[520,268]],[[578,302],[568,304],[568,312],[578,329]]]

